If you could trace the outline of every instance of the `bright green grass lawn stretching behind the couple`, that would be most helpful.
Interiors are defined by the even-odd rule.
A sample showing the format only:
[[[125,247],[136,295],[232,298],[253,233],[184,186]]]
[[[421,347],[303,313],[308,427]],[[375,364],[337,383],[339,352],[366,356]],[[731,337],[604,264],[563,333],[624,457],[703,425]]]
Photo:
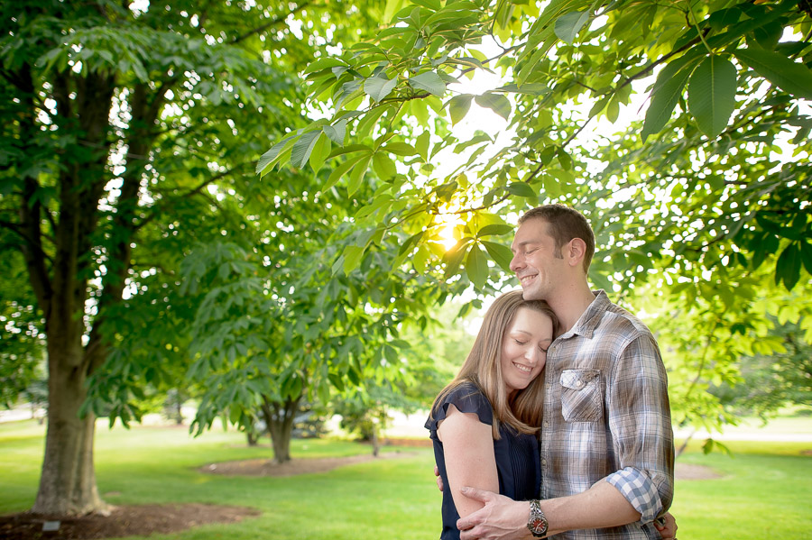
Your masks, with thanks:
[[[0,424],[0,513],[30,508],[42,464],[43,427]],[[678,481],[672,512],[679,536],[693,540],[812,538],[812,443],[725,444],[704,455],[689,446],[680,462],[706,465],[723,477]],[[404,449],[405,450],[405,449]],[[214,430],[197,439],[184,428],[97,429],[98,489],[115,505],[204,502],[259,508],[262,517],[164,535],[183,539],[300,538],[381,540],[436,538],[440,496],[429,448],[412,457],[287,478],[224,477],[197,468],[209,462],[270,457],[236,433]],[[294,441],[294,459],[367,453],[337,440]],[[161,537],[151,536],[151,538]]]

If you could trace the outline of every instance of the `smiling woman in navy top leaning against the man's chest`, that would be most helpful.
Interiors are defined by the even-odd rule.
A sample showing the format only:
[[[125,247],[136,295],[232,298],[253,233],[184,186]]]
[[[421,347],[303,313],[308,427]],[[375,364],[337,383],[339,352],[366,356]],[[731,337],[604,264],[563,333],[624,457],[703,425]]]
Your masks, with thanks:
[[[443,490],[443,540],[459,538],[457,519],[482,503],[460,493],[475,486],[515,500],[539,498],[538,432],[547,347],[558,319],[543,300],[521,290],[498,297],[457,377],[431,407]]]

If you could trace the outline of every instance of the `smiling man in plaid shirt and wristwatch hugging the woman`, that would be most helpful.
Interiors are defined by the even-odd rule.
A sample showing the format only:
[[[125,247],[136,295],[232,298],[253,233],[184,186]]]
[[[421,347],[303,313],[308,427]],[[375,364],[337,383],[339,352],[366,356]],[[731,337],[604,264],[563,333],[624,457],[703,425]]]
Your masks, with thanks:
[[[563,329],[544,374],[541,500],[464,488],[485,506],[457,522],[462,540],[560,532],[573,540],[659,539],[655,519],[673,497],[674,441],[654,337],[604,291],[590,290],[595,236],[576,210],[532,209],[512,252],[523,296],[547,300]]]

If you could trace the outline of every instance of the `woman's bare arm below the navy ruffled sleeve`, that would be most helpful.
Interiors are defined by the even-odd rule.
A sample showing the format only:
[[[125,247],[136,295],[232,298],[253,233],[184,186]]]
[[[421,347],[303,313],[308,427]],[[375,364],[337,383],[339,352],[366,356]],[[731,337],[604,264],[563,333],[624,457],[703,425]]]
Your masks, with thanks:
[[[474,413],[462,413],[449,404],[437,435],[446,458],[448,489],[459,516],[466,517],[484,504],[463,495],[460,490],[464,486],[499,491],[492,428],[480,422]]]

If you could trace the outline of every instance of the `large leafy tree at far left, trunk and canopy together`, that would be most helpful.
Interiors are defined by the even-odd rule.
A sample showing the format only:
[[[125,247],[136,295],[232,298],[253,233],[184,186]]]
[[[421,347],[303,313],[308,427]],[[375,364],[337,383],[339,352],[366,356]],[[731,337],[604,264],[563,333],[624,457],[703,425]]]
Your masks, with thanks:
[[[238,207],[221,197],[254,179],[267,145],[245,134],[295,124],[289,74],[304,51],[377,14],[106,0],[5,3],[0,14],[3,252],[23,253],[47,339],[51,414],[33,510],[82,514],[104,508],[90,412],[99,403],[79,415],[88,377],[115,398],[111,414],[138,416],[134,389],[160,380],[171,363],[161,361],[178,360],[188,336],[180,321],[193,307],[171,303],[186,246],[240,225],[219,217]],[[272,199],[273,184],[263,188]],[[163,329],[180,332],[159,340]],[[130,331],[156,339],[108,362]],[[131,371],[118,365],[131,359]]]

